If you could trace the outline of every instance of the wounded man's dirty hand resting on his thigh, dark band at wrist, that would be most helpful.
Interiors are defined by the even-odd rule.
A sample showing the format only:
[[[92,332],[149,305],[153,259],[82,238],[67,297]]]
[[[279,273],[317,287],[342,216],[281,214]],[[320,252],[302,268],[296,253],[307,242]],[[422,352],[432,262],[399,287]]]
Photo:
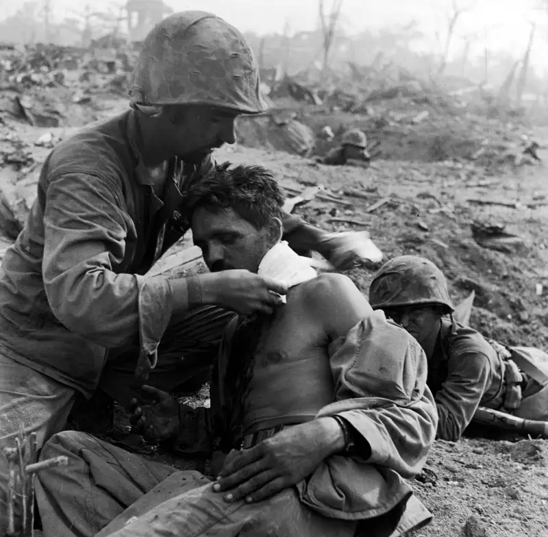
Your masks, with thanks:
[[[227,501],[262,501],[312,474],[344,447],[340,425],[332,418],[293,425],[245,451],[231,451],[214,484]]]

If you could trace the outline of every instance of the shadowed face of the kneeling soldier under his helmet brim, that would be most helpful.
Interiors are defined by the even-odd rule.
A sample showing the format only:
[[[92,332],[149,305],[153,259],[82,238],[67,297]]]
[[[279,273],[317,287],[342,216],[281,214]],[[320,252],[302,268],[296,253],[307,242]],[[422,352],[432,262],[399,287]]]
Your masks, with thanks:
[[[164,118],[164,138],[186,162],[201,162],[214,149],[234,144],[238,112],[206,105],[172,107]]]

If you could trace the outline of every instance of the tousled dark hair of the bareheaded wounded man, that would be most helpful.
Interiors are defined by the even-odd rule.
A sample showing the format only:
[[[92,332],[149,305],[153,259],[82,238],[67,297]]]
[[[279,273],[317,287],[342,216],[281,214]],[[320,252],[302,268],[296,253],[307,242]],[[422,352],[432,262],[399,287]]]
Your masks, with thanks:
[[[272,173],[262,166],[216,164],[211,171],[190,182],[184,192],[184,218],[188,225],[200,207],[216,212],[231,208],[247,222],[260,229],[282,218],[284,193]]]

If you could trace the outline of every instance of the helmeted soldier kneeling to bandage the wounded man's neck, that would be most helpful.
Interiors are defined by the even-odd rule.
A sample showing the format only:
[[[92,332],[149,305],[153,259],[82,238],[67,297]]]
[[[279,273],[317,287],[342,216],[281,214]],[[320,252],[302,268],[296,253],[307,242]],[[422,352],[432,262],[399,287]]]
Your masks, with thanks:
[[[282,288],[247,271],[201,275],[201,295],[184,277],[143,277],[186,232],[180,203],[192,171],[205,173],[212,151],[234,143],[238,114],[265,109],[259,88],[236,28],[210,13],[174,14],[142,45],[132,110],[48,155],[27,225],[0,270],[0,448],[21,425],[41,447],[75,401],[92,395],[107,394],[108,418],[113,399],[129,406],[139,357],[146,366],[160,355],[151,384],[182,384],[211,365],[233,312],[278,303],[269,290]],[[339,239],[282,219],[292,247],[340,264]],[[76,427],[97,423],[94,413],[73,415]],[[0,534],[7,473],[0,449]]]

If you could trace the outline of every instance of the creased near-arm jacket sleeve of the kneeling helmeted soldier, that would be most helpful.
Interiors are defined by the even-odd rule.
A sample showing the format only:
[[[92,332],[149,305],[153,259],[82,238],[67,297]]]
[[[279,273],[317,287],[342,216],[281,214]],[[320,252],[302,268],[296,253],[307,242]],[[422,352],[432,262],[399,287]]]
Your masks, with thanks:
[[[129,215],[105,179],[66,174],[46,191],[42,277],[63,325],[102,347],[135,343],[151,354],[171,319],[173,292],[162,276],[116,274]]]

